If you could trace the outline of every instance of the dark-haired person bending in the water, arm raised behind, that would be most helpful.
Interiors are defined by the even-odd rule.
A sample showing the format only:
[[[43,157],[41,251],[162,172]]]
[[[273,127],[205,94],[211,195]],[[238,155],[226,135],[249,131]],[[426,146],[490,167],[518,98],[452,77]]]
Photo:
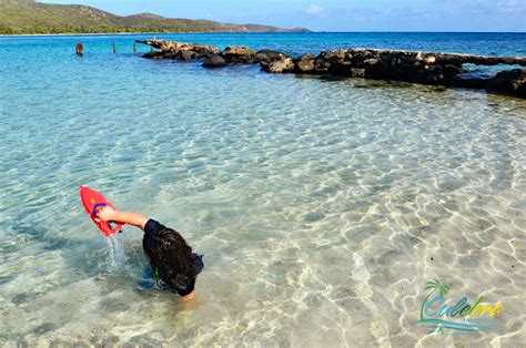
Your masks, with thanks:
[[[151,287],[178,293],[183,301],[195,297],[195,277],[203,268],[202,255],[192,254],[192,248],[176,231],[142,214],[110,206],[98,211],[95,219],[141,228],[144,232],[142,246],[154,277]]]

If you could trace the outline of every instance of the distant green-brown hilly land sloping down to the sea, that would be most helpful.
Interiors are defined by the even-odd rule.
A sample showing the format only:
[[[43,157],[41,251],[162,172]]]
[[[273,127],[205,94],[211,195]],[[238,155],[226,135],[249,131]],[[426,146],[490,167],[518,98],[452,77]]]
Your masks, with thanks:
[[[0,0],[0,34],[136,32],[308,32],[260,24],[164,18],[152,13],[120,17],[92,7],[34,0]]]

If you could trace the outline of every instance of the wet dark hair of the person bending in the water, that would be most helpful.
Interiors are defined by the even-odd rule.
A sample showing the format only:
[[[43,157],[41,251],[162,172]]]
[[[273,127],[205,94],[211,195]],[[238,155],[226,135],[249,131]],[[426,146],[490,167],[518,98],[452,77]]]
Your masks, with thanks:
[[[192,293],[195,284],[195,262],[192,248],[172,228],[144,234],[144,253],[161,288],[169,287],[181,296]]]

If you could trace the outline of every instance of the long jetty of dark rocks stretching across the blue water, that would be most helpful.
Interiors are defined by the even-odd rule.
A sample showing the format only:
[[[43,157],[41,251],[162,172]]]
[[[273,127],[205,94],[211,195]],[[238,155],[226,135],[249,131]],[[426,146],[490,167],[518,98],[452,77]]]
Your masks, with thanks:
[[[393,51],[374,49],[327,50],[291,57],[272,50],[252,51],[245,47],[227,47],[220,51],[203,45],[168,40],[138,41],[156,51],[145,58],[180,61],[203,60],[204,68],[232,64],[260,64],[269,73],[337,75],[421,84],[485,89],[526,98],[526,69],[513,69],[493,76],[473,73],[465,64],[526,66],[526,57],[484,57],[454,53]]]

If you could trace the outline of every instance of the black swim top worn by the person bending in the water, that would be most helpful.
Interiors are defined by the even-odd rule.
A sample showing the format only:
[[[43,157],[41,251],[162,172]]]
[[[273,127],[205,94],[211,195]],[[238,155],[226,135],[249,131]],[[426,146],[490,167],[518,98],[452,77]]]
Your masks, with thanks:
[[[162,231],[162,229],[165,229],[165,228],[166,227],[161,225],[159,222],[150,218],[148,221],[146,225],[144,226],[144,233],[145,234],[155,234],[159,231]],[[194,264],[195,264],[195,275],[198,275],[204,268],[203,255],[202,254],[192,254],[192,256],[194,258]],[[194,282],[191,282],[191,284],[185,286],[185,287],[181,287],[181,288],[171,287],[166,283],[164,283],[162,279],[158,279],[154,276],[154,274],[153,274],[150,266],[145,266],[143,279],[138,282],[138,289],[140,291],[142,291],[142,290],[155,288],[155,289],[162,289],[162,290],[176,293],[181,296],[186,296],[186,295],[191,294],[194,290],[194,284],[195,284],[195,279],[194,279]]]

